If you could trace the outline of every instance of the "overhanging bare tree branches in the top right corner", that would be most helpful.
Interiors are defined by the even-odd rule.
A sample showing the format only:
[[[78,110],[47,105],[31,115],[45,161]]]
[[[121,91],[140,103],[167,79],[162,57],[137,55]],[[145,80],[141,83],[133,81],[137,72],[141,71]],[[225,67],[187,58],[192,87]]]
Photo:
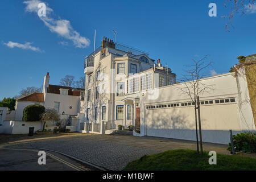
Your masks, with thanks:
[[[229,31],[229,26],[232,26],[232,19],[235,14],[249,14],[253,13],[253,6],[255,5],[255,0],[226,0],[224,7],[229,9],[229,13],[222,16],[224,19],[228,19],[228,23],[225,24],[226,31]]]

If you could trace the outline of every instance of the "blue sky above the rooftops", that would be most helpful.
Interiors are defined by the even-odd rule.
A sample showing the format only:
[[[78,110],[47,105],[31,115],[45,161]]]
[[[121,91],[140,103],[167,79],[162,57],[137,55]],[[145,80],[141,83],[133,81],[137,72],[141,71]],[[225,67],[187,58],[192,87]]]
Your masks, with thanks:
[[[27,86],[41,86],[46,72],[50,84],[59,84],[65,75],[83,76],[84,57],[93,51],[94,29],[96,47],[102,36],[114,39],[115,30],[117,42],[150,53],[177,77],[184,65],[205,55],[213,61],[210,76],[211,71],[227,73],[236,57],[256,53],[256,13],[235,16],[234,28],[227,32],[221,18],[228,13],[224,1],[43,2],[50,8],[48,25],[31,1],[1,1],[0,100]],[[217,5],[217,17],[208,15],[211,2]]]

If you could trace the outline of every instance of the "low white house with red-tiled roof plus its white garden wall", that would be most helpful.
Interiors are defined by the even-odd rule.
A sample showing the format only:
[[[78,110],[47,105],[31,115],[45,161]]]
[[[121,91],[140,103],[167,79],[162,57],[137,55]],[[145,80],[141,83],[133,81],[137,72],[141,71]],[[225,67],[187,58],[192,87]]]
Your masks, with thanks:
[[[23,110],[28,105],[43,105],[46,109],[55,109],[59,112],[61,119],[67,119],[71,126],[77,127],[77,113],[80,111],[80,100],[84,97],[84,89],[71,88],[61,85],[49,84],[49,73],[44,76],[43,92],[32,93],[16,100],[15,110],[8,113],[1,109],[6,115],[4,125],[0,127],[0,133],[22,134],[28,132],[28,127],[42,129],[42,122],[22,122]],[[7,112],[7,114],[6,114]],[[3,114],[3,115],[4,115]],[[1,124],[1,121],[0,121]]]

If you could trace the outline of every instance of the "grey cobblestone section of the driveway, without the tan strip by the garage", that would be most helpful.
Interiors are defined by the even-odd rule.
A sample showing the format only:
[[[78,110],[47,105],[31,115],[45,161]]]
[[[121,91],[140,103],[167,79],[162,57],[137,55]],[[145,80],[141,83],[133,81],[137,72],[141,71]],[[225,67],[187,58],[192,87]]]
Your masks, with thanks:
[[[105,142],[104,140],[92,140],[92,138],[86,135],[81,137],[16,143],[9,147],[45,148],[59,151],[110,170],[122,170],[126,164],[132,160],[141,158],[143,155],[161,152],[160,150],[150,148]]]

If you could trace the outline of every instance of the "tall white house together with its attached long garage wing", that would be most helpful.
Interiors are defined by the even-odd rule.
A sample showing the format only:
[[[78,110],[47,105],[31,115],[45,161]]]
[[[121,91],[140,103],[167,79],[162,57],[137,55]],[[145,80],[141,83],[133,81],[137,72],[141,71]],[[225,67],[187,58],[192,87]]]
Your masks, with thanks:
[[[246,60],[255,62],[255,57],[246,56]],[[240,68],[238,72],[244,71]],[[180,91],[186,83],[176,84],[176,75],[160,60],[154,63],[147,53],[103,39],[85,57],[84,72],[79,131],[107,134],[118,125],[134,125],[139,127],[135,136],[196,139],[195,103]],[[256,75],[255,69],[252,75]],[[249,88],[245,73],[200,82],[212,86],[200,95],[204,142],[228,144],[229,130],[233,134],[255,131],[255,91]]]

